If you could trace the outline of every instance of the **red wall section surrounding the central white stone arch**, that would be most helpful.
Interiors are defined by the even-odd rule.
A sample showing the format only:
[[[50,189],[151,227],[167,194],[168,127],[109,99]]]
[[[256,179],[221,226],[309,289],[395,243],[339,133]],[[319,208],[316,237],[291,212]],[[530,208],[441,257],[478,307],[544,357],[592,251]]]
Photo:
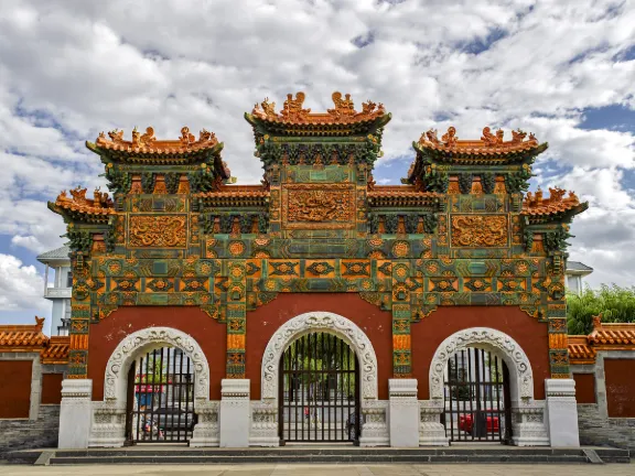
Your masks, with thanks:
[[[340,314],[366,333],[377,355],[379,398],[388,399],[388,379],[392,377],[392,314],[367,303],[357,293],[280,293],[269,304],[247,313],[250,398],[260,398],[262,355],[273,333],[290,318],[311,311]]]

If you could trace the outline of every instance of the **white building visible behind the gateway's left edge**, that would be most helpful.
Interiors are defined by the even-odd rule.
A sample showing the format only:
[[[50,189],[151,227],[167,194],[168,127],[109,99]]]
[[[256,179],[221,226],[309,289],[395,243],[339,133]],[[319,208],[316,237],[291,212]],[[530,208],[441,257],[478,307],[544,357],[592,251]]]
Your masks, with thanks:
[[[46,251],[37,257],[45,264],[44,298],[52,301],[51,335],[68,335],[71,322],[71,291],[73,274],[71,272],[69,249],[66,246]],[[49,272],[53,270],[53,285],[49,283]]]

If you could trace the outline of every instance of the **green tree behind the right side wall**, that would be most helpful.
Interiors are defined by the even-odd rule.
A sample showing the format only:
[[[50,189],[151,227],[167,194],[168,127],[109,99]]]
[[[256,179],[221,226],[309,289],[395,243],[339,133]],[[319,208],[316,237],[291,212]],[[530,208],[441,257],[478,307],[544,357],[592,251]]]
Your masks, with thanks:
[[[567,295],[567,326],[570,335],[586,335],[593,331],[593,316],[602,314],[603,323],[635,322],[635,286],[602,284],[589,286],[582,294]]]

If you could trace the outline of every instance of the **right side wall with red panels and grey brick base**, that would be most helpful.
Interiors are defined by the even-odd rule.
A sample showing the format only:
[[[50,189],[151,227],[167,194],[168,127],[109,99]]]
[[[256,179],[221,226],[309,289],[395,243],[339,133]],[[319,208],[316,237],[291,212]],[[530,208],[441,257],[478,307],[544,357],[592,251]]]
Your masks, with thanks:
[[[580,444],[635,451],[635,414],[631,413],[635,402],[635,351],[600,350],[594,365],[573,365],[571,370],[577,387],[581,385],[575,389],[582,397],[578,400]]]

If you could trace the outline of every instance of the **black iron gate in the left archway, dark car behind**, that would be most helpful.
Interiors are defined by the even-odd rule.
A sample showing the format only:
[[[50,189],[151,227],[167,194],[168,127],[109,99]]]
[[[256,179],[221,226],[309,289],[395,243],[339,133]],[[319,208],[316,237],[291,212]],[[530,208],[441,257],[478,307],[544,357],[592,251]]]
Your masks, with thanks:
[[[192,437],[194,366],[174,347],[162,347],[137,360],[128,377],[129,443],[185,443]]]

